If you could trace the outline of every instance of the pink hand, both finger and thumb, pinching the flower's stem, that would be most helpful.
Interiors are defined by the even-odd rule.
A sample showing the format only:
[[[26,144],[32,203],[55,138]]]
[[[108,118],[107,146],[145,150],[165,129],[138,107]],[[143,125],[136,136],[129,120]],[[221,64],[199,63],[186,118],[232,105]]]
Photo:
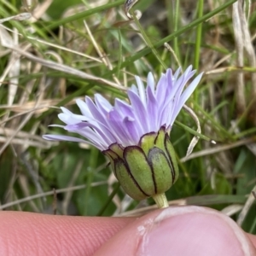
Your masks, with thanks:
[[[0,255],[256,255],[256,236],[221,212],[169,207],[139,218],[0,212]]]

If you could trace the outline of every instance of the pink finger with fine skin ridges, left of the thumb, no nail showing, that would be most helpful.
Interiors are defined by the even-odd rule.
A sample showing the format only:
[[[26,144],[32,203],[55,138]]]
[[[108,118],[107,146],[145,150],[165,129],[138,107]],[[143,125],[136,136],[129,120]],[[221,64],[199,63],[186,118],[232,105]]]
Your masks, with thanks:
[[[0,212],[0,255],[92,255],[133,218]]]

